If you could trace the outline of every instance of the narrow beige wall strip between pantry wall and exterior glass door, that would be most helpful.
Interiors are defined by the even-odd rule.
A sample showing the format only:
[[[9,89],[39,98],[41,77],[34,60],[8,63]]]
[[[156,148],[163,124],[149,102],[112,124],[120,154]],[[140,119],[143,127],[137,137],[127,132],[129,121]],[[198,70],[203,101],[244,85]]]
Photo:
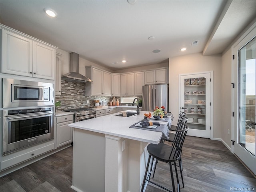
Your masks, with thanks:
[[[226,143],[230,147],[231,150],[231,122],[232,122],[232,111],[231,111],[231,91],[232,91],[232,53],[231,48],[226,51],[221,58],[221,90],[222,90],[222,98],[221,98],[221,138],[222,141]],[[230,134],[228,134],[228,129]]]

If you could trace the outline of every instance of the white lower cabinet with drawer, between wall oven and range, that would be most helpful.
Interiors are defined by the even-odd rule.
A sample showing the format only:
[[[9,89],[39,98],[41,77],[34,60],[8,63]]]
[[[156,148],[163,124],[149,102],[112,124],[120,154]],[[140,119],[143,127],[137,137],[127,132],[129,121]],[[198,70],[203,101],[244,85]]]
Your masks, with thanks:
[[[73,123],[73,115],[56,117],[56,148],[73,142],[73,128],[68,124]]]

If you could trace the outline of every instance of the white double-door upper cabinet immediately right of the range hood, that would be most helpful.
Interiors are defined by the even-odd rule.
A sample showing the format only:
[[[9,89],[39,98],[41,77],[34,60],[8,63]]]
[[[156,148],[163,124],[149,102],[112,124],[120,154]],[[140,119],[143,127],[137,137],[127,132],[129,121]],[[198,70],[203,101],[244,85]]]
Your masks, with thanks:
[[[111,96],[111,73],[86,66],[86,77],[92,80],[86,83],[86,96]]]

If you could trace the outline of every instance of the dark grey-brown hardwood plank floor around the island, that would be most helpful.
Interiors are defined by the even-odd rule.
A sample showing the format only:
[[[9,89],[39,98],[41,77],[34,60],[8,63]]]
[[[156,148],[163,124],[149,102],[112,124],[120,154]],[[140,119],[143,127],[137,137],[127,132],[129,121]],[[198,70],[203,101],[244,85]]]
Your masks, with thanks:
[[[256,179],[222,142],[187,136],[182,152],[182,192],[256,191]],[[172,188],[168,164],[158,163],[153,180]],[[1,192],[74,192],[71,185],[72,147],[0,178]],[[165,190],[148,184],[146,192]]]

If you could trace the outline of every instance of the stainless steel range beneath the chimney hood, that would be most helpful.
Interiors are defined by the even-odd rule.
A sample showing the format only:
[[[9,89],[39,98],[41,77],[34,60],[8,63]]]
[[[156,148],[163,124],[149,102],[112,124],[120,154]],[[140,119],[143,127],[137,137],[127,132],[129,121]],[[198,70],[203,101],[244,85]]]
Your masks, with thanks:
[[[74,112],[74,122],[96,118],[96,110],[93,108],[74,108],[63,111]]]

